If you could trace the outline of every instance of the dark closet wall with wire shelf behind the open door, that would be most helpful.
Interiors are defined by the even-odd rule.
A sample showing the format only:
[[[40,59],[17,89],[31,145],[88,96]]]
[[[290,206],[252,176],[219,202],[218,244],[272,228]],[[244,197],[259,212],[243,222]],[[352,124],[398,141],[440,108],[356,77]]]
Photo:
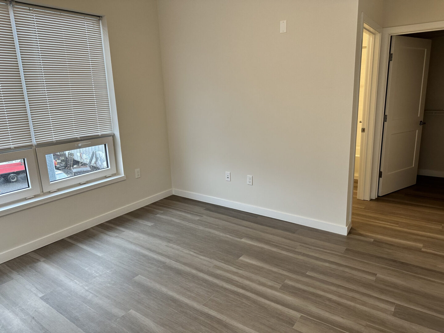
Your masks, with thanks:
[[[444,177],[444,37],[432,39],[418,174]],[[441,110],[441,111],[427,111]]]

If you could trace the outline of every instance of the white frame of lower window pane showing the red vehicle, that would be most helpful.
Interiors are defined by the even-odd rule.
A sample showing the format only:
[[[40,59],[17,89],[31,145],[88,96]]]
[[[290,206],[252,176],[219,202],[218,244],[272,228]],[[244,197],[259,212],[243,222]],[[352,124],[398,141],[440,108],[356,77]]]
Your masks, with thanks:
[[[21,151],[12,151],[0,154],[0,163],[14,161],[17,159],[25,160],[25,171],[26,177],[28,178],[29,187],[0,194],[0,205],[4,205],[20,199],[33,197],[37,194],[40,194],[42,191],[40,186],[39,168],[37,166],[36,153],[34,149],[25,149]]]

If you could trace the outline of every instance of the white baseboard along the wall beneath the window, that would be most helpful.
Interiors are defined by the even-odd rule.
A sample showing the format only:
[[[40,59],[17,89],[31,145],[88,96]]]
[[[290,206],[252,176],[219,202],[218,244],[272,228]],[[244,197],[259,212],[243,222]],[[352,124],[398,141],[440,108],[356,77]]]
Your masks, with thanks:
[[[71,235],[76,234],[80,231],[91,228],[92,226],[96,226],[100,223],[109,221],[112,218],[116,218],[120,215],[127,214],[133,210],[140,208],[140,207],[147,206],[150,203],[153,203],[153,202],[156,202],[160,199],[166,198],[166,197],[170,196],[171,194],[173,194],[173,190],[166,190],[166,191],[160,192],[158,194],[151,195],[151,197],[144,198],[142,200],[133,202],[127,206],[117,208],[115,210],[111,210],[110,212],[96,216],[96,217],[91,218],[87,221],[80,222],[79,224],[76,224],[74,226],[70,226],[66,229],[56,231],[53,234],[49,234],[49,235],[44,236],[42,238],[36,239],[32,242],[17,246],[11,250],[4,251],[4,252],[0,253],[0,264],[2,262],[7,262],[8,260],[19,257],[22,254],[26,254],[28,252],[34,251],[42,246],[46,246],[48,244],[56,242],[62,238],[71,236]]]

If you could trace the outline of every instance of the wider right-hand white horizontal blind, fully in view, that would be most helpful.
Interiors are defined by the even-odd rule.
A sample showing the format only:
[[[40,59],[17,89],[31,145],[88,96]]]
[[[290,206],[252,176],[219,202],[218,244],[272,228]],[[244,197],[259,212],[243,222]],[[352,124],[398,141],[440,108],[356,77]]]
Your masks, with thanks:
[[[36,143],[112,133],[100,20],[13,6]]]

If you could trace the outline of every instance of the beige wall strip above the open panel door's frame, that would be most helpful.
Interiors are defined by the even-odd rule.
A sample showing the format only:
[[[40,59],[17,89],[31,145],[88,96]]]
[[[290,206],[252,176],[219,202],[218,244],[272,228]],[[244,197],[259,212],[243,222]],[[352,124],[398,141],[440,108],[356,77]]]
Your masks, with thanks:
[[[444,20],[442,0],[384,0],[383,27]]]

